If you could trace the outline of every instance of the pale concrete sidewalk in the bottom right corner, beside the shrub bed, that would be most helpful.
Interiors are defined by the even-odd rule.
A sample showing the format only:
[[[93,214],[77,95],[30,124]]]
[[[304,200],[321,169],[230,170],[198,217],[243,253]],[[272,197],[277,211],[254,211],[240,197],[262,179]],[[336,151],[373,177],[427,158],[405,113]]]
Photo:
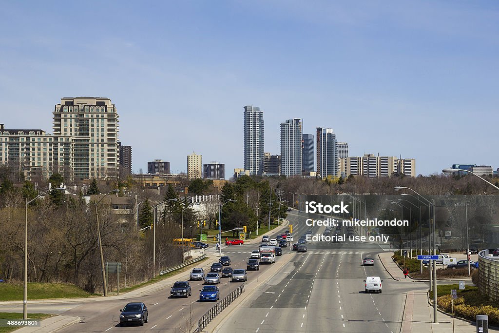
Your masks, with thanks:
[[[438,312],[437,324],[433,324],[433,307],[428,304],[426,291],[413,290],[407,293],[402,319],[401,333],[411,332],[433,332],[449,333],[452,329],[452,316],[443,312]],[[454,318],[454,332],[471,333],[476,332],[475,323],[469,323],[465,320]],[[489,328],[489,332],[499,332]]]

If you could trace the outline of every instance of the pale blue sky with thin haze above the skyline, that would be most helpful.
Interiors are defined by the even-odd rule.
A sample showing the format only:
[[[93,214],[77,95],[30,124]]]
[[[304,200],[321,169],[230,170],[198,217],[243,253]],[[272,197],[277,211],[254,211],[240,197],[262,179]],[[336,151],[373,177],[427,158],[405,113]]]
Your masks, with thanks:
[[[243,166],[243,107],[333,128],[350,155],[499,167],[499,2],[0,1],[0,123],[52,133],[61,97],[111,98],[133,170]]]

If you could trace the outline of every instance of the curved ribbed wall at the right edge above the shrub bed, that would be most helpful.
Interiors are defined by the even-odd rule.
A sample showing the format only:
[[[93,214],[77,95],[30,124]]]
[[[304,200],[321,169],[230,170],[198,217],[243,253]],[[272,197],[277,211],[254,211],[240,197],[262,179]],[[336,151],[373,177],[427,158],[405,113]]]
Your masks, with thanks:
[[[499,302],[499,258],[489,257],[489,250],[478,254],[478,289],[491,301]]]

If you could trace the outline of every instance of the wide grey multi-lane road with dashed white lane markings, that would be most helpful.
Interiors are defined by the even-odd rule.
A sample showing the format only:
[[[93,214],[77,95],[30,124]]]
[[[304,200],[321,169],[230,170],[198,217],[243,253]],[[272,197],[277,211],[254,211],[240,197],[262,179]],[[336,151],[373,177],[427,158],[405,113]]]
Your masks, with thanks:
[[[295,241],[305,231],[322,233],[324,227],[307,227],[306,217],[296,211],[288,215],[293,224]],[[275,236],[275,235],[274,235]],[[246,268],[256,244],[224,247],[231,257],[231,267]],[[362,266],[362,258],[383,250],[367,243],[312,243],[307,253],[289,253],[283,248],[277,265],[261,265],[259,271],[248,272],[245,300],[218,325],[219,332],[398,332],[407,289],[386,274],[381,263]],[[280,263],[280,265],[279,265]],[[207,271],[211,262],[200,265]],[[364,294],[366,276],[384,279],[382,294]],[[183,273],[177,280],[187,280]],[[264,284],[262,281],[267,280]],[[203,282],[191,282],[192,297],[170,299],[170,285],[139,296],[109,299],[30,303],[29,312],[77,316],[80,323],[64,328],[64,332],[188,332],[215,303],[200,303]],[[221,299],[238,287],[224,278]],[[421,285],[424,288],[424,285]],[[415,289],[415,288],[413,288]],[[144,302],[149,310],[149,323],[143,327],[119,327],[119,310],[128,302]],[[22,311],[22,305],[0,305],[1,311]],[[229,311],[229,310],[226,310]],[[212,325],[214,326],[214,325]]]

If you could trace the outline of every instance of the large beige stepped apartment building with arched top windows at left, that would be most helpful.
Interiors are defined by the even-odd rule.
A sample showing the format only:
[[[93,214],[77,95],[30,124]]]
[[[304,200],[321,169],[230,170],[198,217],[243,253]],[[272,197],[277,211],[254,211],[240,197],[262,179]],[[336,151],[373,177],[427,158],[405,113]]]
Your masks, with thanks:
[[[68,180],[114,177],[120,153],[118,118],[109,98],[61,98],[52,112],[53,136],[38,129],[1,131],[3,151],[7,148],[3,163],[15,165],[27,179],[55,172]]]

